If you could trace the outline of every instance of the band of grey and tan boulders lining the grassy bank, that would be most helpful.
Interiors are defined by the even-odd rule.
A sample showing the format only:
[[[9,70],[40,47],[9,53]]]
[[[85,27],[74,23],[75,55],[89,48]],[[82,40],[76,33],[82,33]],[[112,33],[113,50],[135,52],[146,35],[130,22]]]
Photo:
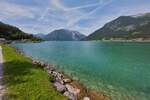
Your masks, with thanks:
[[[48,72],[48,74],[53,76],[53,84],[57,91],[62,93],[64,96],[68,97],[69,100],[78,100],[80,95],[80,89],[75,88],[71,85],[71,83],[73,82],[71,78],[69,78],[61,72],[58,72],[55,69],[56,67],[54,65],[45,64],[37,60],[33,60],[33,64],[43,66],[44,69]],[[82,100],[90,100],[90,98],[83,97]]]

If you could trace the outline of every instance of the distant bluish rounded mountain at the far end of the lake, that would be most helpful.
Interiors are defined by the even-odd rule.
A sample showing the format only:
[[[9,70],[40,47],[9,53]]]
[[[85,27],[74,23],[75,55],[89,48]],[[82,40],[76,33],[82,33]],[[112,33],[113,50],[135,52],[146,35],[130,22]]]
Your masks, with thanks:
[[[45,36],[45,39],[49,41],[79,41],[83,38],[85,35],[66,29],[55,30]]]

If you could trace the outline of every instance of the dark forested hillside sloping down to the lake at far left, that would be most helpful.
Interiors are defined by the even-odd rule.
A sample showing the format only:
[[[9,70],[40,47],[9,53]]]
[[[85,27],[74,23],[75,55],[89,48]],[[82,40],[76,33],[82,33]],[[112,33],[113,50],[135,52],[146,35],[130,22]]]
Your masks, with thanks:
[[[34,37],[31,34],[27,34],[21,31],[19,28],[0,22],[0,38],[5,38],[7,40],[40,40],[39,38]]]

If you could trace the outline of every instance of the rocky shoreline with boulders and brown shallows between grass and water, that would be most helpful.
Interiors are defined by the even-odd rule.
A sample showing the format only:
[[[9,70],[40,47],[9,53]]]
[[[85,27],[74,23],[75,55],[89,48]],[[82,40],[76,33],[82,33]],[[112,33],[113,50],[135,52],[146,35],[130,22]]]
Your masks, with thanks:
[[[31,59],[33,64],[38,65],[52,76],[53,80],[51,82],[53,83],[56,91],[62,93],[69,100],[110,100],[110,97],[103,92],[88,89],[80,81],[74,80],[62,70],[59,71],[55,65],[34,59],[31,56],[25,55],[22,50],[19,50],[14,46],[11,47],[15,48],[19,54]]]

